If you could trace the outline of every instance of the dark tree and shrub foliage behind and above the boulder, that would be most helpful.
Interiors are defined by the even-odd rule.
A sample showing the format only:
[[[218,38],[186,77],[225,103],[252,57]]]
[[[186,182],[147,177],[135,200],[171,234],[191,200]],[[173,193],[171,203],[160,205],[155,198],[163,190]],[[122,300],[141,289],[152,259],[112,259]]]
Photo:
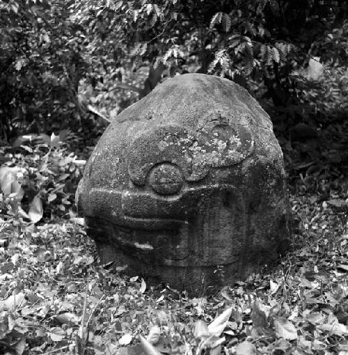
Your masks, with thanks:
[[[262,103],[290,166],[346,173],[347,15],[347,1],[1,1],[1,136],[90,139],[159,81],[203,72]]]

